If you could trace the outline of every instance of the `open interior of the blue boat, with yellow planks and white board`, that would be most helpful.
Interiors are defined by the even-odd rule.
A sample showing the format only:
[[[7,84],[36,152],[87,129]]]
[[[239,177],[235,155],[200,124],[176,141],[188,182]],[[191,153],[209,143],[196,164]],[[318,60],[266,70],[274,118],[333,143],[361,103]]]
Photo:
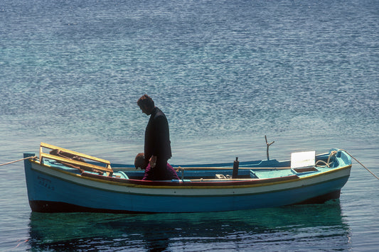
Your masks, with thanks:
[[[49,153],[44,153],[43,150],[45,149],[48,149]],[[320,162],[323,165],[317,165]],[[301,177],[310,173],[321,172],[326,167],[333,168],[337,165],[336,162],[338,161],[330,158],[329,153],[315,155],[313,151],[294,155],[292,160],[283,162],[277,160],[237,162],[235,160],[234,163],[212,165],[172,165],[179,177],[179,180],[172,180],[172,182],[262,180],[293,175]],[[41,143],[39,163],[87,177],[142,180],[144,176],[144,170],[137,170],[134,165],[111,164],[109,160],[95,158],[48,143]]]

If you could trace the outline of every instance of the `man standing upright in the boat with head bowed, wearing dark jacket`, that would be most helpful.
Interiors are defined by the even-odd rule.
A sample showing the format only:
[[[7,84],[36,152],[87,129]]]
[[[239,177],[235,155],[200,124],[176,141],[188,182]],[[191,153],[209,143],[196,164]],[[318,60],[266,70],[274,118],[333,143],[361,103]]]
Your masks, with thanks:
[[[146,162],[151,166],[154,180],[169,179],[167,175],[167,160],[171,158],[171,142],[169,122],[166,115],[154,105],[153,99],[147,94],[137,102],[142,113],[150,116],[145,130],[144,154]]]

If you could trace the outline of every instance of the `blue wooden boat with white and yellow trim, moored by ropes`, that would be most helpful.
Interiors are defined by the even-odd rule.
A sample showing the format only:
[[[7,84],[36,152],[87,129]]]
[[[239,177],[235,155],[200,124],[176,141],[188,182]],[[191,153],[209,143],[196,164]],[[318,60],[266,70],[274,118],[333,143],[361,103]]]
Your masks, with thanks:
[[[46,148],[80,158],[44,153]],[[216,212],[338,199],[350,176],[351,156],[331,149],[307,152],[299,162],[297,154],[304,153],[283,162],[173,165],[179,180],[146,181],[133,165],[41,143],[39,157],[24,153],[34,157],[24,166],[33,212]]]

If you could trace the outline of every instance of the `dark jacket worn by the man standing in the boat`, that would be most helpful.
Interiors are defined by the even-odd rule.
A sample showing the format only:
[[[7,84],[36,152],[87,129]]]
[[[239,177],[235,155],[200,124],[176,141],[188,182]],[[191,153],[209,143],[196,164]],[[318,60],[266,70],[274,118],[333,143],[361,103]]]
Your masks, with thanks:
[[[149,160],[151,155],[169,160],[172,155],[169,122],[166,115],[157,107],[151,113],[146,126],[144,154],[146,160]]]

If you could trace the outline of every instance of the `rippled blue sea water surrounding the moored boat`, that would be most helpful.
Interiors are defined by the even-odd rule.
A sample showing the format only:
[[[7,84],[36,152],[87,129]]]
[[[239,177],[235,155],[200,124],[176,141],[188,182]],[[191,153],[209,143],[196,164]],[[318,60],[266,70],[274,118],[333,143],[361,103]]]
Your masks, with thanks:
[[[170,163],[343,148],[379,175],[379,3],[0,2],[0,163],[41,141],[114,163],[143,150],[153,97]],[[377,251],[379,182],[353,163],[341,199],[203,214],[31,213],[0,166],[0,251]]]

